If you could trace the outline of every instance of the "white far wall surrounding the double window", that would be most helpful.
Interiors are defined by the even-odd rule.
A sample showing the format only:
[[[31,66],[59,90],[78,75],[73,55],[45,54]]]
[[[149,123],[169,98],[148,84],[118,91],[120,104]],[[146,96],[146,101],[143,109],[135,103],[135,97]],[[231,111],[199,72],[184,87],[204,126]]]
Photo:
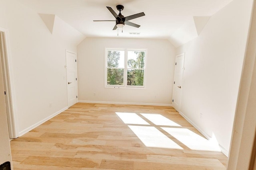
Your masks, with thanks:
[[[104,88],[105,47],[147,49],[145,89]],[[168,40],[87,37],[77,47],[77,58],[80,102],[172,103],[175,49]]]

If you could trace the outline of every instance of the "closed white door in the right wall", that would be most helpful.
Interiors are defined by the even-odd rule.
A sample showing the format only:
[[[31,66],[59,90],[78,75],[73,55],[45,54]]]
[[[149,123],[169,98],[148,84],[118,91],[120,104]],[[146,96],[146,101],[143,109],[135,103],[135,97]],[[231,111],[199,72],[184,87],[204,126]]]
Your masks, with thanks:
[[[184,57],[185,53],[177,55],[175,60],[172,106],[177,111],[180,111]]]

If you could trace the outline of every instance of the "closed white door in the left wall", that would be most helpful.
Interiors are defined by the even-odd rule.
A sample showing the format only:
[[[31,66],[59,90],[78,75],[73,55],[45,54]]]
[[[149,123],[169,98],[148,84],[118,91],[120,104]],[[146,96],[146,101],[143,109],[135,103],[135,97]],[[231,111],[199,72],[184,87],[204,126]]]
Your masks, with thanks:
[[[77,103],[76,54],[66,51],[68,107]]]

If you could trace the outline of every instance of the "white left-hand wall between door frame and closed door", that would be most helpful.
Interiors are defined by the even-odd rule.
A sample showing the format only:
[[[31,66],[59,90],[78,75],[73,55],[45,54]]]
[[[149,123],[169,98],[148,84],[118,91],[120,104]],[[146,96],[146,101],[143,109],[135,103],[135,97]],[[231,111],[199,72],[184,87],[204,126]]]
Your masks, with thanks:
[[[40,16],[17,0],[1,1],[0,27],[9,30],[18,131],[22,135],[67,107],[65,50],[76,51],[77,44],[52,35]]]

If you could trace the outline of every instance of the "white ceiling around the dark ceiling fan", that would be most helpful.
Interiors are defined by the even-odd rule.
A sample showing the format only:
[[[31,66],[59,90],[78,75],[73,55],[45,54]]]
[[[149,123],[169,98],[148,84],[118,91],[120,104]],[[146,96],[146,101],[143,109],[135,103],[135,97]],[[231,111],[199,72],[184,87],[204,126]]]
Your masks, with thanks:
[[[118,37],[170,39],[177,30],[191,23],[193,16],[212,16],[232,0],[19,0],[41,14],[55,14],[86,37],[117,37],[112,30],[115,20],[106,6],[118,14],[122,4],[123,16],[144,12],[146,16],[130,20],[140,28],[125,25]],[[130,35],[129,32],[140,32]]]

